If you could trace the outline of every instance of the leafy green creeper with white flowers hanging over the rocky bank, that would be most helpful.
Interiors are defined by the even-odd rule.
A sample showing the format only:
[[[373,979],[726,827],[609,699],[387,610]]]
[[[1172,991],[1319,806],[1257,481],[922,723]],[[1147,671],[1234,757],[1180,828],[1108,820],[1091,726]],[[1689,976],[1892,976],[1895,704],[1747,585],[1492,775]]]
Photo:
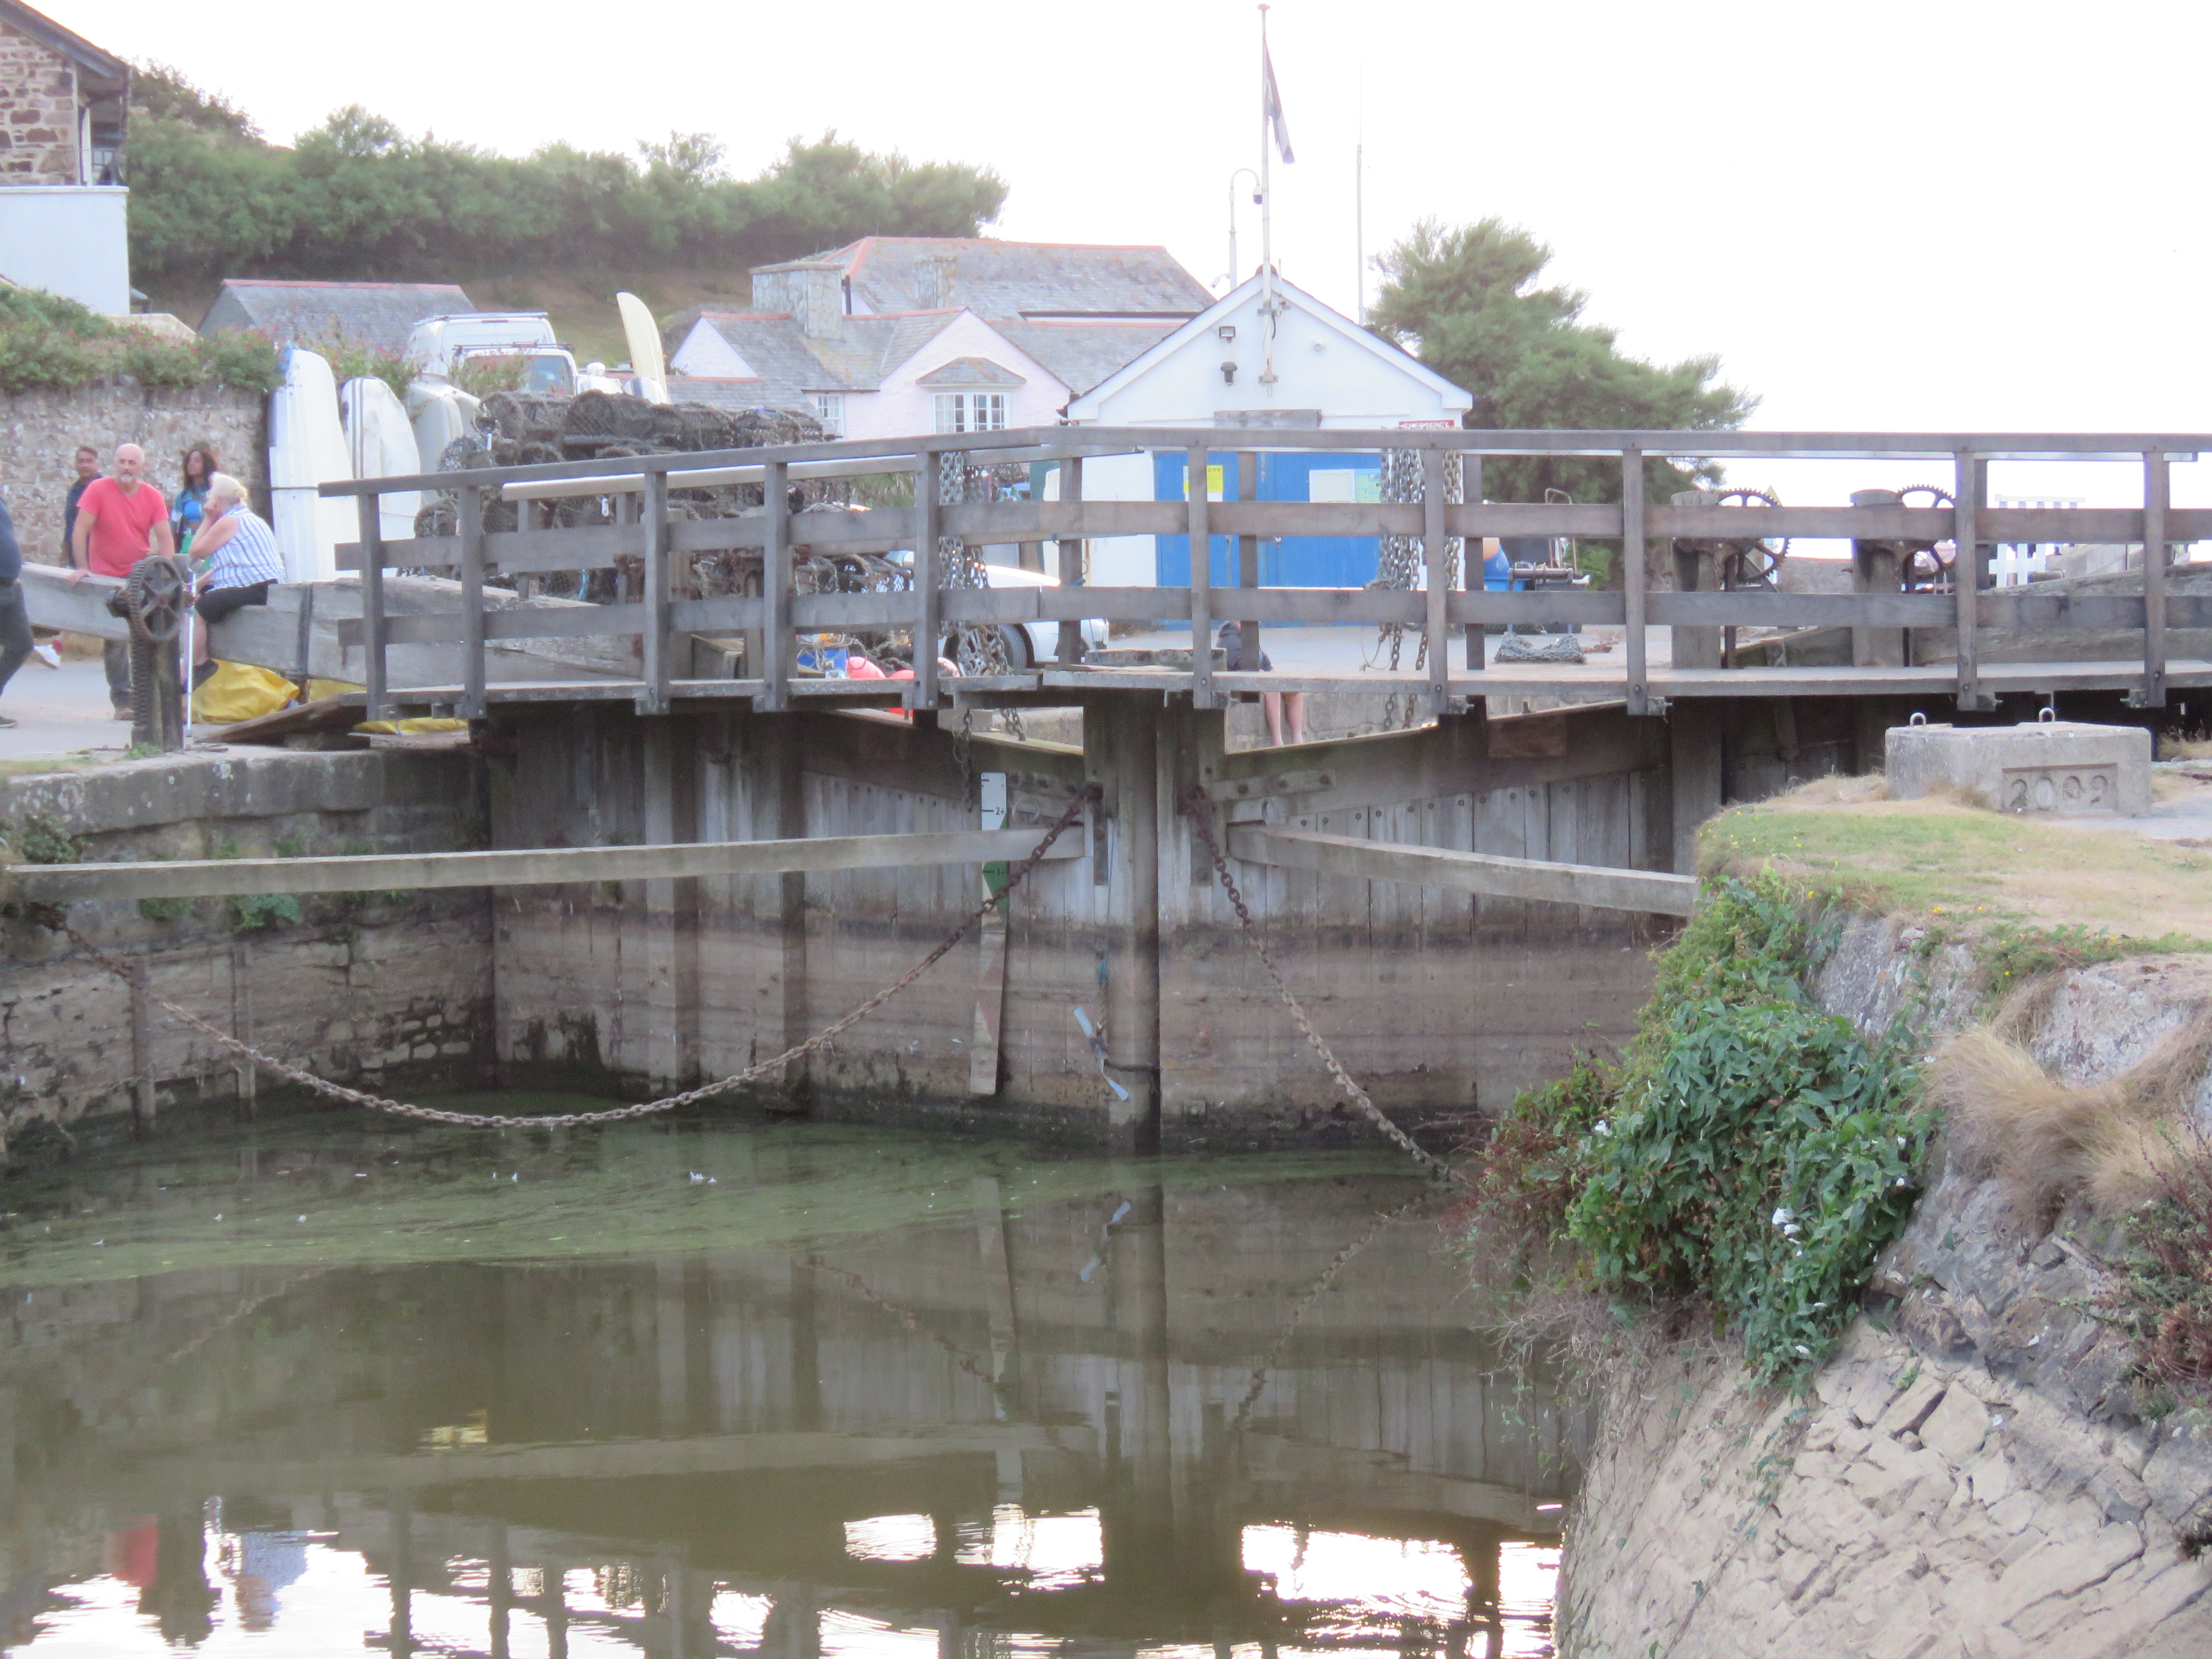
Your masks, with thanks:
[[[1478,1245],[1568,1250],[1628,1298],[1699,1296],[1761,1378],[1801,1378],[1918,1197],[1936,1128],[1909,1033],[1820,1013],[1818,898],[1721,880],[1661,956],[1637,1040],[1522,1095],[1478,1186]]]

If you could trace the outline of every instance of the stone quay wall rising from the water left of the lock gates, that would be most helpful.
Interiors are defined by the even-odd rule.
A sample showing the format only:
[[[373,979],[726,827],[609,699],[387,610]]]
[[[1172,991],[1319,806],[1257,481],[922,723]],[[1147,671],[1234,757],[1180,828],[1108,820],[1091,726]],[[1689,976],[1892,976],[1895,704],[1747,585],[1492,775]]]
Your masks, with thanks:
[[[86,863],[484,841],[482,776],[462,754],[234,748],[0,781],[11,836],[40,818],[84,834]],[[157,998],[323,1077],[369,1088],[489,1079],[489,894],[330,894],[299,907],[288,922],[221,898],[155,916],[135,900],[86,900],[69,920],[95,945],[144,958]],[[55,1128],[128,1126],[131,989],[33,918],[0,916],[0,1155],[24,1155]],[[228,1121],[270,1097],[268,1077],[159,1009],[148,1029],[159,1115],[212,1108]]]

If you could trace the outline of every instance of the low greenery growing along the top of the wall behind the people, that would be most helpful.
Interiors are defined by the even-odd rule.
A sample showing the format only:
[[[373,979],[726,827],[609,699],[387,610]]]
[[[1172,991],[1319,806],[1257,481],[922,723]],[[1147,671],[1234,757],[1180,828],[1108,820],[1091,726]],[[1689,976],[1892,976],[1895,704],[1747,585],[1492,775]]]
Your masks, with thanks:
[[[0,392],[69,392],[128,376],[148,387],[270,392],[276,347],[259,334],[168,341],[33,288],[0,288]]]

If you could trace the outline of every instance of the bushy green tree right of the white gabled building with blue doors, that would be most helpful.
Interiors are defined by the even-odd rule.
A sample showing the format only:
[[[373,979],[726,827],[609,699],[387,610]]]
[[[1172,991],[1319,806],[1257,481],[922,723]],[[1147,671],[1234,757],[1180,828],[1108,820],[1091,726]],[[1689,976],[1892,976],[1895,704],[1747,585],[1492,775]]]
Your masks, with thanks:
[[[1615,332],[1582,321],[1579,288],[1537,288],[1551,248],[1500,219],[1444,228],[1433,219],[1378,261],[1385,283],[1369,319],[1438,374],[1475,394],[1469,427],[1632,427],[1721,431],[1741,427],[1759,400],[1721,385],[1719,356],[1659,365],[1626,356]],[[1714,484],[1712,462],[1646,460],[1646,500]],[[1579,456],[1531,456],[1484,465],[1491,500],[1540,502],[1564,489],[1577,502],[1619,500],[1619,467]]]

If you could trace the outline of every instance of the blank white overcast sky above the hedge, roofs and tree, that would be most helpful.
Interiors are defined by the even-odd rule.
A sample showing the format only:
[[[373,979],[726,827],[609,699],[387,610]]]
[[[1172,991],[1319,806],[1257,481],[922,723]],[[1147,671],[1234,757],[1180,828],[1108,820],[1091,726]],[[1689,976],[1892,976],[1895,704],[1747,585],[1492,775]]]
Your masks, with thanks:
[[[995,166],[991,234],[1157,241],[1201,281],[1228,265],[1228,179],[1259,150],[1245,0],[44,9],[279,142],[358,102],[507,153],[710,131],[750,175],[834,126]],[[1517,221],[1628,349],[1719,352],[1763,398],[1754,427],[2212,427],[2208,15],[1276,0],[1298,150],[1276,168],[1279,261],[1352,310],[1365,135],[1369,250],[1425,215]],[[1243,217],[1250,270],[1248,199]],[[2177,498],[2199,500],[2194,473],[2212,465],[2179,469]]]

